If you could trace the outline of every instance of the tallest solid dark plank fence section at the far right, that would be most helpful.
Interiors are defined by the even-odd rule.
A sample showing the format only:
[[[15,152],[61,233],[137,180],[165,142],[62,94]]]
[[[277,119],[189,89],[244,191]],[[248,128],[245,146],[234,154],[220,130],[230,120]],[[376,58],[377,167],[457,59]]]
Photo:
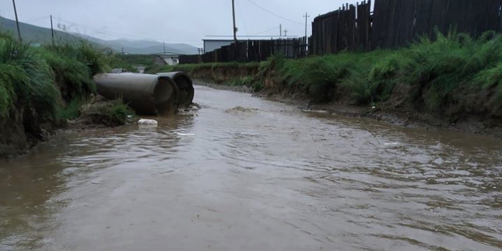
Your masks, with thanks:
[[[479,37],[501,31],[501,0],[377,0],[374,7],[372,47],[407,46],[434,30],[450,30]]]

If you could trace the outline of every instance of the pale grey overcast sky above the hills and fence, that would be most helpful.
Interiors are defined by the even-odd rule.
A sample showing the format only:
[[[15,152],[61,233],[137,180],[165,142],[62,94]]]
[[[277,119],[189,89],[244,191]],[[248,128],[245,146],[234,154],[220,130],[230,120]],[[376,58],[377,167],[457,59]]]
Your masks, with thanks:
[[[238,35],[305,34],[315,16],[347,0],[235,0]],[[202,47],[207,35],[232,35],[231,0],[16,0],[21,22],[66,27],[102,39],[149,39]],[[14,19],[11,0],[0,0],[0,16]],[[310,25],[307,29],[310,35]]]

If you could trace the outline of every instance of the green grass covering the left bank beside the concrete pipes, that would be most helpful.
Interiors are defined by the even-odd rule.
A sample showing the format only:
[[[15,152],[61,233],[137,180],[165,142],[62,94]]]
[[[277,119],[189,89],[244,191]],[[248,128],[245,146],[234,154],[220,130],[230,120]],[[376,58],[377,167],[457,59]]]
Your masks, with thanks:
[[[104,51],[85,42],[35,48],[0,31],[0,118],[18,111],[38,122],[75,118],[96,92],[92,76],[127,66]]]

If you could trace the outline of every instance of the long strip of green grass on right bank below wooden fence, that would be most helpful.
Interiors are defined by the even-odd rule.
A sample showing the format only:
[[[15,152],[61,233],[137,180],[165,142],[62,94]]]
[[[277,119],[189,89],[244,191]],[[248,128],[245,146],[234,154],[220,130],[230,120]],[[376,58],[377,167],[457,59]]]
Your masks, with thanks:
[[[403,49],[378,49],[367,53],[343,51],[327,56],[287,60],[271,56],[259,63],[256,75],[240,76],[230,85],[275,87],[308,94],[312,102],[328,102],[336,93],[350,94],[355,104],[385,102],[397,85],[409,86],[409,102],[428,110],[465,102],[463,93],[489,92],[486,103],[502,105],[502,35],[485,32],[474,39],[463,33],[436,32],[435,39],[422,37]],[[156,66],[149,73],[257,67],[256,63],[201,63]],[[251,81],[252,80],[252,81]],[[259,88],[257,88],[259,89]],[[345,92],[343,92],[345,90]],[[340,92],[342,91],[342,92]],[[485,95],[485,96],[486,96]]]

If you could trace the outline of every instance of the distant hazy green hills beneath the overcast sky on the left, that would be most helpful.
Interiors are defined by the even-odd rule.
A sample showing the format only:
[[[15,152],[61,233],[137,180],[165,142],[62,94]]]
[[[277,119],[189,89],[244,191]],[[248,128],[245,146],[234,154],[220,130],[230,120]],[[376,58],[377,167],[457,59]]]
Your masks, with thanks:
[[[51,29],[30,25],[27,23],[19,23],[23,41],[46,44],[51,42]],[[0,17],[0,28],[11,30],[17,34],[16,21]],[[120,52],[122,48],[128,54],[159,54],[164,52],[164,44],[156,41],[147,40],[104,40],[88,35],[78,33],[67,33],[58,30],[54,31],[54,37],[58,41],[78,41],[86,39],[95,44],[101,44],[104,47],[109,47],[114,51]],[[166,52],[176,54],[197,54],[197,47],[189,44],[166,44]]]

